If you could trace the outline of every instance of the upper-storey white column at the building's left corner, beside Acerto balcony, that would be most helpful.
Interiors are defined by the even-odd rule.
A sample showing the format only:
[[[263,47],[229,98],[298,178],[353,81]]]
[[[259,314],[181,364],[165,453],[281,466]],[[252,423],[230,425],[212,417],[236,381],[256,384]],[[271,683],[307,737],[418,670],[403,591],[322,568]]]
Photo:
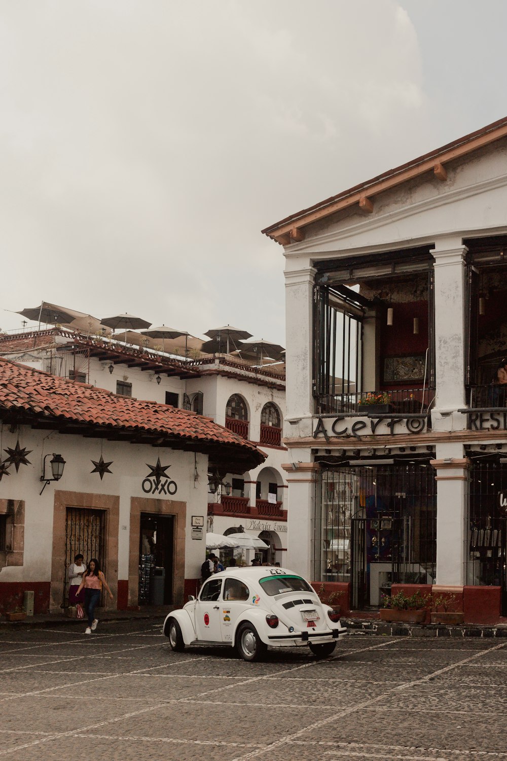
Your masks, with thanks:
[[[313,411],[312,313],[313,267],[285,272],[287,387],[285,419],[300,419]],[[286,425],[286,435],[291,435]]]

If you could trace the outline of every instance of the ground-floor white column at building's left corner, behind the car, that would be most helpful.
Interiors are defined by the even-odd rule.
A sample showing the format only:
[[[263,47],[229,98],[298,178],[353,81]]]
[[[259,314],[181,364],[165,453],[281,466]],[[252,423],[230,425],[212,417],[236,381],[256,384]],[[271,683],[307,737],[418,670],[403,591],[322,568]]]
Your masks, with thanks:
[[[309,455],[309,450],[299,450]],[[308,457],[309,460],[309,457]],[[315,478],[319,466],[312,462],[282,465],[289,484],[290,520],[287,521],[287,567],[313,581],[315,533]]]

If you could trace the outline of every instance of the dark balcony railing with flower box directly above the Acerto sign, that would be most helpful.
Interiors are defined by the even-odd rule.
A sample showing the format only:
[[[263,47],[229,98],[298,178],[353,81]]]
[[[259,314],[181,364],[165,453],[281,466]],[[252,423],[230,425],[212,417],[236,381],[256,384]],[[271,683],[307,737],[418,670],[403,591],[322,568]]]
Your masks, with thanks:
[[[429,412],[435,400],[435,390],[431,388],[389,389],[389,400],[385,409],[380,410],[376,405],[365,403],[379,391],[360,391],[358,393],[328,393],[320,394],[316,402],[317,415],[357,415],[372,412],[392,412],[394,415],[413,415],[414,413]]]

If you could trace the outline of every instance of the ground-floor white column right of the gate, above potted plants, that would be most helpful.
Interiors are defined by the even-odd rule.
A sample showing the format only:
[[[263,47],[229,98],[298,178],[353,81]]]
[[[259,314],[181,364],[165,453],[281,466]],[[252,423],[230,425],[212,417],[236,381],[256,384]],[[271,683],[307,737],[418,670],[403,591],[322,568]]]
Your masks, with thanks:
[[[470,460],[462,444],[437,444],[436,584],[463,586],[467,569],[467,499]]]

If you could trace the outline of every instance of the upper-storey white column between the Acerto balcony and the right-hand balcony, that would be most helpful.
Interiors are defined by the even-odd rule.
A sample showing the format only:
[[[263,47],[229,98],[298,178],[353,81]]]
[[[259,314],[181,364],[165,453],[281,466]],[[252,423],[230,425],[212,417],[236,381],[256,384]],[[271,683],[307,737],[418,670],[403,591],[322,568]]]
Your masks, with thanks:
[[[445,247],[444,247],[445,246]],[[435,411],[464,406],[464,256],[467,247],[437,245],[435,258]],[[460,416],[461,417],[461,416]]]

